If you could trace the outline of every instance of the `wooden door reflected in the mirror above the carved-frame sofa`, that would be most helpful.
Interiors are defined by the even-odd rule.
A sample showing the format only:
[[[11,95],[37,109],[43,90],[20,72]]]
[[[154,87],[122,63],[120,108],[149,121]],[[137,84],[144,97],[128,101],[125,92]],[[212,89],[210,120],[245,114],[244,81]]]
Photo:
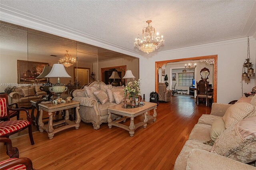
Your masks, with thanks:
[[[77,77],[76,77],[77,73]],[[81,82],[82,85],[88,85],[90,83],[90,68],[84,68],[84,67],[74,67],[74,81]]]

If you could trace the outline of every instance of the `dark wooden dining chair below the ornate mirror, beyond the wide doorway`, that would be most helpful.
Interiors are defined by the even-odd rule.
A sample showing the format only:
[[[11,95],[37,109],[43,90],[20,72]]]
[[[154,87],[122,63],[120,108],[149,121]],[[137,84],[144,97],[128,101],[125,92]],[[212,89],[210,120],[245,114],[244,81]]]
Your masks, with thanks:
[[[196,82],[196,103],[198,105],[199,98],[205,98],[206,99],[206,106],[208,104],[208,87],[209,87],[209,81],[206,81],[205,79],[201,79],[199,82]]]

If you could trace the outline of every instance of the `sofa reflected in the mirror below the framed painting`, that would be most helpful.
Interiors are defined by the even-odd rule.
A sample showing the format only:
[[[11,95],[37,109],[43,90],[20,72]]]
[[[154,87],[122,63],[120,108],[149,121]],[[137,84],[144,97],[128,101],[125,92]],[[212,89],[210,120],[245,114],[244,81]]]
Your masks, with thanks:
[[[30,86],[17,87],[9,94],[10,102],[17,103],[18,108],[32,107],[30,101],[40,99],[42,95],[46,95],[46,92],[40,90],[40,86],[31,84]]]

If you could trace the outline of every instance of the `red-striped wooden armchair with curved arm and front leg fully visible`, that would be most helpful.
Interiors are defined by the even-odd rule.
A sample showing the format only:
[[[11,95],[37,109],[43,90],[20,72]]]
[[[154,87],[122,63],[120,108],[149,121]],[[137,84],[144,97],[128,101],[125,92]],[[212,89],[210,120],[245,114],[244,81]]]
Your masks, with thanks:
[[[0,95],[0,118],[7,117],[7,121],[0,122],[0,137],[9,137],[12,134],[20,132],[25,128],[28,128],[28,134],[30,138],[30,142],[33,145],[34,140],[32,136],[32,119],[28,113],[27,109],[12,109],[8,107],[7,98],[8,95]],[[10,121],[10,114],[9,111],[25,111],[27,114],[28,121]]]

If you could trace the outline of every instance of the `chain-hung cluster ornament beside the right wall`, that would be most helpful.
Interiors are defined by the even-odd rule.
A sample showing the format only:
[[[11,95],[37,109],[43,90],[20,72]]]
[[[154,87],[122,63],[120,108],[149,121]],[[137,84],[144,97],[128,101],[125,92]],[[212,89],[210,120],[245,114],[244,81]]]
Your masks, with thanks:
[[[253,63],[250,63],[250,40],[249,36],[247,39],[247,59],[244,61],[243,70],[242,70],[242,81],[245,83],[250,83],[250,79],[254,79],[255,73],[252,68]]]

